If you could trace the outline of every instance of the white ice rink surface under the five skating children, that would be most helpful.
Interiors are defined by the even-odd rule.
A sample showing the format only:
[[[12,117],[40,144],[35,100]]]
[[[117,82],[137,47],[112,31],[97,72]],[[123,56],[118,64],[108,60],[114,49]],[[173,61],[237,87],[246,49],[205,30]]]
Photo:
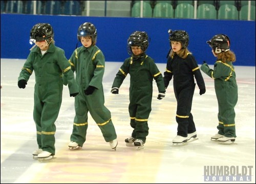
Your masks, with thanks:
[[[230,183],[206,181],[204,174],[210,167],[236,172],[233,175],[237,178],[231,183],[255,183],[255,67],[234,63],[239,90],[234,143],[210,140],[210,136],[217,133],[218,103],[214,81],[202,72],[206,93],[200,96],[196,86],[191,110],[198,140],[173,145],[177,133],[173,82],[167,88],[166,97],[158,100],[154,81],[149,135],[145,148],[136,150],[124,142],[132,133],[128,112],[130,77],[125,78],[118,95],[111,94],[115,74],[122,63],[106,62],[103,78],[105,106],[112,113],[117,150],[112,150],[104,141],[90,115],[86,143],[80,150],[69,150],[75,110],[74,98],[69,96],[65,86],[56,121],[56,159],[39,162],[32,157],[32,152],[37,149],[33,121],[34,73],[25,89],[17,87],[24,62],[1,59],[1,183]],[[165,71],[165,64],[157,66],[162,73]],[[241,180],[238,175],[242,172],[242,175],[251,175],[251,181],[250,177]]]

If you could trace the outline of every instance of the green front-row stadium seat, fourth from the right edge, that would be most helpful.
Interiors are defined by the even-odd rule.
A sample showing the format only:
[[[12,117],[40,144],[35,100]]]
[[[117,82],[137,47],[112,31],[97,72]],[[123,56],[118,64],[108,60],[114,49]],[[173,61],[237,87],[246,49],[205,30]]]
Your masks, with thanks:
[[[194,7],[190,4],[178,4],[175,9],[175,18],[194,18]]]

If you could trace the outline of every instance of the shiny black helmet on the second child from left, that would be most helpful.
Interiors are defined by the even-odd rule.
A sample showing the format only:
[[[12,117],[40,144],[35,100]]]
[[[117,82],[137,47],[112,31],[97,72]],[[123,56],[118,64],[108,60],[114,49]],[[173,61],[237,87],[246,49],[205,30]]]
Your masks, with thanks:
[[[77,31],[78,41],[81,41],[81,36],[90,36],[92,38],[92,42],[95,43],[97,39],[97,30],[95,26],[91,22],[84,22],[81,24]]]

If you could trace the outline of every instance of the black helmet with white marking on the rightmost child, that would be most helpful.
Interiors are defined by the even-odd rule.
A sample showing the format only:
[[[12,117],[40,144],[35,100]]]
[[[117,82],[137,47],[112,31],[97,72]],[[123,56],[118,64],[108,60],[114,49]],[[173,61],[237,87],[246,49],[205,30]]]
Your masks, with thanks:
[[[219,34],[207,41],[216,54],[226,52],[230,48],[230,40],[227,35]]]

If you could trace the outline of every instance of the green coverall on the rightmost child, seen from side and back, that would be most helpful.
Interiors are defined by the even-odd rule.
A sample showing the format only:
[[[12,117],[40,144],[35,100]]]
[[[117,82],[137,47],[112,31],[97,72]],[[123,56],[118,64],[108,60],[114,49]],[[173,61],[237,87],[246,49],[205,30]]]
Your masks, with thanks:
[[[236,116],[234,107],[238,101],[238,86],[232,62],[217,61],[214,64],[214,70],[210,69],[207,63],[204,63],[201,66],[201,70],[211,78],[214,78],[219,107],[218,134],[225,137],[237,137],[234,124]]]

